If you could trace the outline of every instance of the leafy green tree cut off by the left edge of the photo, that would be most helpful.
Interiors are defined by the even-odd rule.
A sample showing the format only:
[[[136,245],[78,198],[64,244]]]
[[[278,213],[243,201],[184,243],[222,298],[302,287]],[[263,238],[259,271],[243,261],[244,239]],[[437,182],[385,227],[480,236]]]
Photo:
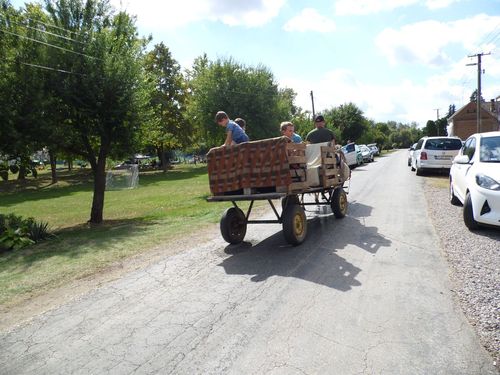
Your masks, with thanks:
[[[44,41],[42,30],[35,26],[46,15],[39,5],[27,4],[24,12],[17,12],[2,2],[1,8],[0,46],[6,54],[0,64],[0,153],[17,161],[22,180],[28,173],[35,175],[30,155],[42,147],[40,123],[48,99],[43,89],[45,72],[36,67],[44,65],[46,48],[34,40]]]

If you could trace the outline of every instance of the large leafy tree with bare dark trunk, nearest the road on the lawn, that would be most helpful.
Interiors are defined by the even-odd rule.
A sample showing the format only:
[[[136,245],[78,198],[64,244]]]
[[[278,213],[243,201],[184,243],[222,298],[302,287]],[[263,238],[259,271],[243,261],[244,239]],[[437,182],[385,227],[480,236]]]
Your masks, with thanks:
[[[46,0],[55,25],[75,43],[60,61],[64,76],[57,94],[65,109],[67,145],[86,158],[94,176],[90,223],[103,219],[106,159],[130,153],[137,144],[148,96],[141,65],[146,41],[135,21],[113,14],[107,1]],[[76,43],[78,41],[79,43]]]

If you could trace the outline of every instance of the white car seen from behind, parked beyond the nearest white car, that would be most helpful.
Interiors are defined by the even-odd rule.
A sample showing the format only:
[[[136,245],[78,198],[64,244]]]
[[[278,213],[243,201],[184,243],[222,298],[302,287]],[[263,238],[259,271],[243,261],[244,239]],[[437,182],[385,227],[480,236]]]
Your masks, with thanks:
[[[423,137],[415,146],[411,157],[411,170],[421,176],[426,170],[447,170],[462,148],[458,137]]]

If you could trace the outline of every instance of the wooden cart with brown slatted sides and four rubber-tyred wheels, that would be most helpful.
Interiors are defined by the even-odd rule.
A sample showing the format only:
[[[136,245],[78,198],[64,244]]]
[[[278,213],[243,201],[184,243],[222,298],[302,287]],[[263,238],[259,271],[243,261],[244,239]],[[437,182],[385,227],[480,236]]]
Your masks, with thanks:
[[[316,147],[316,163],[306,162],[307,147]],[[286,137],[217,147],[207,154],[209,202],[232,202],[222,215],[220,231],[231,244],[243,241],[248,224],[282,224],[285,240],[302,243],[307,236],[306,205],[329,205],[335,217],[347,213],[344,183],[350,178],[342,152],[332,144],[291,143]],[[314,199],[306,199],[314,195]],[[253,204],[266,200],[276,219],[250,219]],[[281,200],[278,210],[273,200]],[[238,202],[249,201],[246,213]]]

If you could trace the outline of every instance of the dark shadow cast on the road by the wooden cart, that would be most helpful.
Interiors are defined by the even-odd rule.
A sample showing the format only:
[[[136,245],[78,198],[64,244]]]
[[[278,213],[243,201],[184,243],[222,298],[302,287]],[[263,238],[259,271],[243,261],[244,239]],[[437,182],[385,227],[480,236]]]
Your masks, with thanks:
[[[371,212],[371,207],[359,203],[353,208],[358,217]],[[390,244],[390,240],[378,234],[377,228],[364,226],[357,217],[335,219],[327,215],[308,220],[307,239],[299,246],[286,244],[280,231],[256,245],[243,242],[227,246],[225,252],[231,256],[219,265],[227,274],[253,275],[254,282],[271,276],[295,277],[349,291],[361,285],[356,277],[362,270],[337,251],[358,247],[375,254]]]

